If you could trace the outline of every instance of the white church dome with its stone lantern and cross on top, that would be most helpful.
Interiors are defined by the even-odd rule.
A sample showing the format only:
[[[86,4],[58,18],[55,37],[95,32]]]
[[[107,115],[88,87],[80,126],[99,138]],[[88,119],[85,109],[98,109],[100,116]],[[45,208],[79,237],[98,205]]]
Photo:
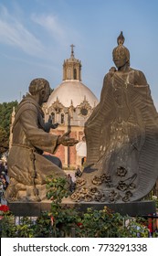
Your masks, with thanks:
[[[63,81],[51,93],[47,101],[47,108],[55,101],[59,101],[66,108],[72,104],[76,108],[81,102],[88,101],[93,109],[99,101],[93,92],[81,82],[81,61],[75,59],[74,45],[70,47],[70,58],[65,59],[63,64]]]

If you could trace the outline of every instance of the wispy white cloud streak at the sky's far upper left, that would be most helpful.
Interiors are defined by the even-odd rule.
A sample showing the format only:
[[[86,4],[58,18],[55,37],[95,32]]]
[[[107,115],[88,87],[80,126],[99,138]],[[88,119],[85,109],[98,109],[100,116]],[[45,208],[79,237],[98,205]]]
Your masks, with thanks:
[[[21,48],[27,54],[34,56],[44,51],[37,37],[31,34],[14,16],[10,16],[3,5],[0,5],[0,42]]]

